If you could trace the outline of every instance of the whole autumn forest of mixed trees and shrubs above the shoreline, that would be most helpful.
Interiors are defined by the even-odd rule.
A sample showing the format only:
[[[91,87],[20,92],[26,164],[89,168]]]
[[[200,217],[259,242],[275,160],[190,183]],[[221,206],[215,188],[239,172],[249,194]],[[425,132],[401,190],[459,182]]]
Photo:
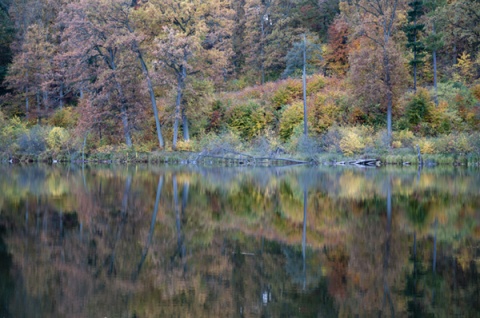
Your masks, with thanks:
[[[0,0],[0,156],[478,162],[479,44],[475,0]]]

